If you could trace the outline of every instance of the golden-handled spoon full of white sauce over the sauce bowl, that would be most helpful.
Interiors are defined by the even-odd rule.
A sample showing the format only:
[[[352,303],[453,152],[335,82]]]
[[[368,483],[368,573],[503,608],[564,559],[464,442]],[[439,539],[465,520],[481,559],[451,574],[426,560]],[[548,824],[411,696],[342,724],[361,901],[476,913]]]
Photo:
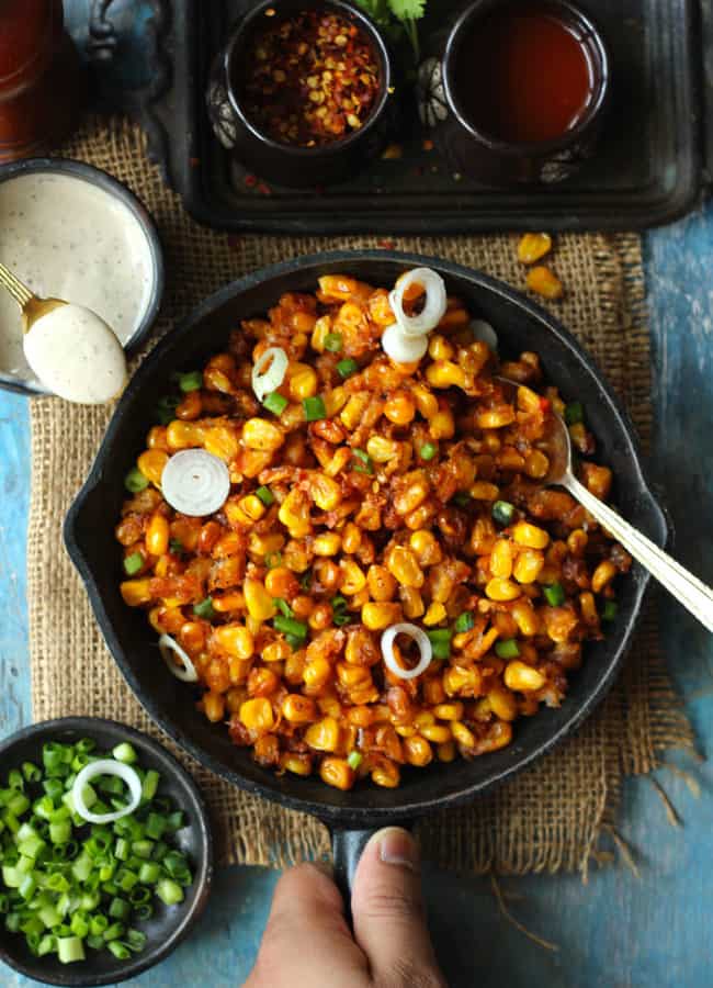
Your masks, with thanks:
[[[42,383],[59,397],[98,405],[126,381],[126,357],[111,326],[82,305],[39,299],[0,262],[0,284],[22,312],[23,349]]]

